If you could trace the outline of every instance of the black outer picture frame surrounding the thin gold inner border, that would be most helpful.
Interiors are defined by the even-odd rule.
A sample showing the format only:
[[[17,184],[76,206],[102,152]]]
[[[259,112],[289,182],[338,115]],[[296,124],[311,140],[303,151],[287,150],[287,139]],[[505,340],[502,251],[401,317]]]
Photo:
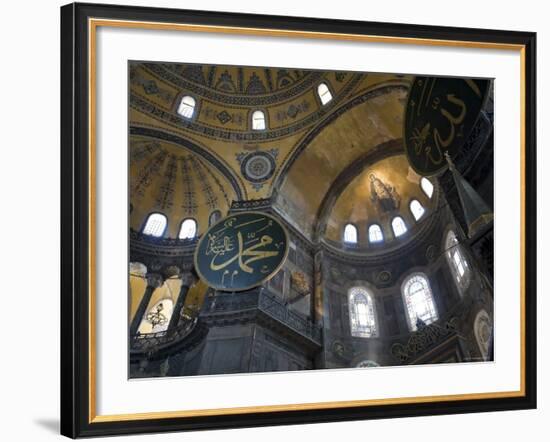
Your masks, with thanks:
[[[404,402],[197,417],[94,419],[90,389],[90,18],[309,33],[369,35],[464,44],[514,45],[524,81],[524,389],[516,397]],[[61,434],[71,437],[336,422],[536,408],[536,34],[488,29],[69,4],[61,8]]]

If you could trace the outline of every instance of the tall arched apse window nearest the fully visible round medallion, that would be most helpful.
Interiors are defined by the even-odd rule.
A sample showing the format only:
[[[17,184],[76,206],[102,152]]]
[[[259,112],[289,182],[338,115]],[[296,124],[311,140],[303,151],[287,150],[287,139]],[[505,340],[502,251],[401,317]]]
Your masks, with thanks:
[[[348,292],[351,335],[372,338],[378,334],[376,313],[372,296],[363,287],[353,287]]]

